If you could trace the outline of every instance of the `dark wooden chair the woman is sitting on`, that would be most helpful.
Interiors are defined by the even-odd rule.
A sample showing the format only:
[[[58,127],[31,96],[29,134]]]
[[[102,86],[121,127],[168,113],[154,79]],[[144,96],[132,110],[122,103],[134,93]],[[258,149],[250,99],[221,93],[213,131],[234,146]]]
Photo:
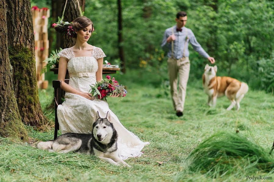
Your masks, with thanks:
[[[65,83],[69,84],[69,79],[65,79]],[[59,123],[57,118],[57,107],[62,104],[62,96],[65,95],[65,91],[61,88],[60,80],[53,80],[52,87],[54,88],[54,101],[55,101],[55,128],[54,128],[54,139],[57,138],[57,132],[59,130]]]

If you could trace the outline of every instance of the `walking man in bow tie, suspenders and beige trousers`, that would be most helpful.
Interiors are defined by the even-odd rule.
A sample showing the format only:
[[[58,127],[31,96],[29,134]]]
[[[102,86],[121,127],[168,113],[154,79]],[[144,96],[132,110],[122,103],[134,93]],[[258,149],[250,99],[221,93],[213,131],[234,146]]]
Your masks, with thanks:
[[[212,64],[213,57],[197,42],[194,33],[185,27],[187,23],[187,13],[178,12],[176,15],[176,25],[165,30],[162,41],[162,48],[168,49],[168,72],[170,82],[170,93],[173,106],[178,117],[183,116],[184,103],[186,98],[187,81],[190,70],[188,44],[190,43],[195,51],[207,58]],[[179,93],[177,91],[179,74]]]

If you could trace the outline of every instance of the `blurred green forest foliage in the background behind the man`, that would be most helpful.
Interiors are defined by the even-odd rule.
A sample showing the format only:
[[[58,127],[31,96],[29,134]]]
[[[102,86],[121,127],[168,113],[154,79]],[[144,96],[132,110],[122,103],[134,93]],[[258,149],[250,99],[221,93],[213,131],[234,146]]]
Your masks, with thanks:
[[[128,68],[157,72],[158,60],[148,62],[147,58],[155,55],[155,49],[160,50],[164,30],[175,25],[178,11],[187,11],[187,27],[192,29],[205,51],[215,57],[216,65],[226,76],[236,75],[247,83],[254,82],[252,74],[258,70],[258,65],[253,66],[253,63],[270,59],[274,47],[272,1],[123,1],[122,8],[122,44]],[[85,11],[98,30],[90,43],[101,47],[112,63],[119,57],[116,1],[87,1]],[[208,61],[191,46],[189,49],[190,74],[201,78]],[[142,60],[146,61],[146,66]],[[162,62],[165,61],[166,58]],[[144,63],[142,68],[140,63]],[[261,84],[252,83],[252,87],[266,89]]]

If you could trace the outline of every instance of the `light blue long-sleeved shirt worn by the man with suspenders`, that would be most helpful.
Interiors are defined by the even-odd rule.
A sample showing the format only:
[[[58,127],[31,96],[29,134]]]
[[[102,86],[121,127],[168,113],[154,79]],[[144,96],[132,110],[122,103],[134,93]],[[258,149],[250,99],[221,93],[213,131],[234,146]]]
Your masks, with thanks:
[[[180,59],[181,57],[183,57],[183,52],[185,57],[189,57],[189,50],[188,50],[189,43],[192,45],[193,49],[197,51],[200,55],[204,56],[205,58],[209,57],[208,53],[206,53],[205,50],[202,48],[202,46],[199,44],[199,42],[197,42],[194,33],[190,29],[186,27],[182,27],[182,32],[177,32],[176,25],[175,25],[165,30],[164,38],[161,45],[163,49],[168,49],[167,56],[169,58],[172,57],[171,42],[166,42],[166,39],[170,35],[172,35],[172,29],[176,37],[173,44],[174,58]],[[189,39],[187,39],[187,44],[185,46],[186,35],[189,37]],[[184,49],[186,50],[184,51]]]

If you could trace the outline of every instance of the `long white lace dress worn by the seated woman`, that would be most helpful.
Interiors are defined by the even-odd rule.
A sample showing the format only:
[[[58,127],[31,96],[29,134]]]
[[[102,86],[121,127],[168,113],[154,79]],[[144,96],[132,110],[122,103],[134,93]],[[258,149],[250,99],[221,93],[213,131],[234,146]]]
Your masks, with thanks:
[[[93,48],[90,57],[75,57],[73,47],[63,49],[60,57],[69,59],[67,69],[73,77],[69,78],[69,85],[81,92],[89,92],[90,85],[96,82],[95,72],[98,69],[97,59],[105,57],[102,49]],[[87,74],[88,73],[88,74]],[[78,75],[78,76],[75,76]],[[82,96],[66,93],[65,101],[57,108],[57,116],[62,134],[64,133],[91,133],[92,122],[96,112],[105,117],[109,111],[111,122],[118,133],[119,156],[125,160],[128,157],[141,156],[141,150],[149,142],[142,142],[138,136],[128,131],[117,116],[109,109],[103,100],[89,100]]]

